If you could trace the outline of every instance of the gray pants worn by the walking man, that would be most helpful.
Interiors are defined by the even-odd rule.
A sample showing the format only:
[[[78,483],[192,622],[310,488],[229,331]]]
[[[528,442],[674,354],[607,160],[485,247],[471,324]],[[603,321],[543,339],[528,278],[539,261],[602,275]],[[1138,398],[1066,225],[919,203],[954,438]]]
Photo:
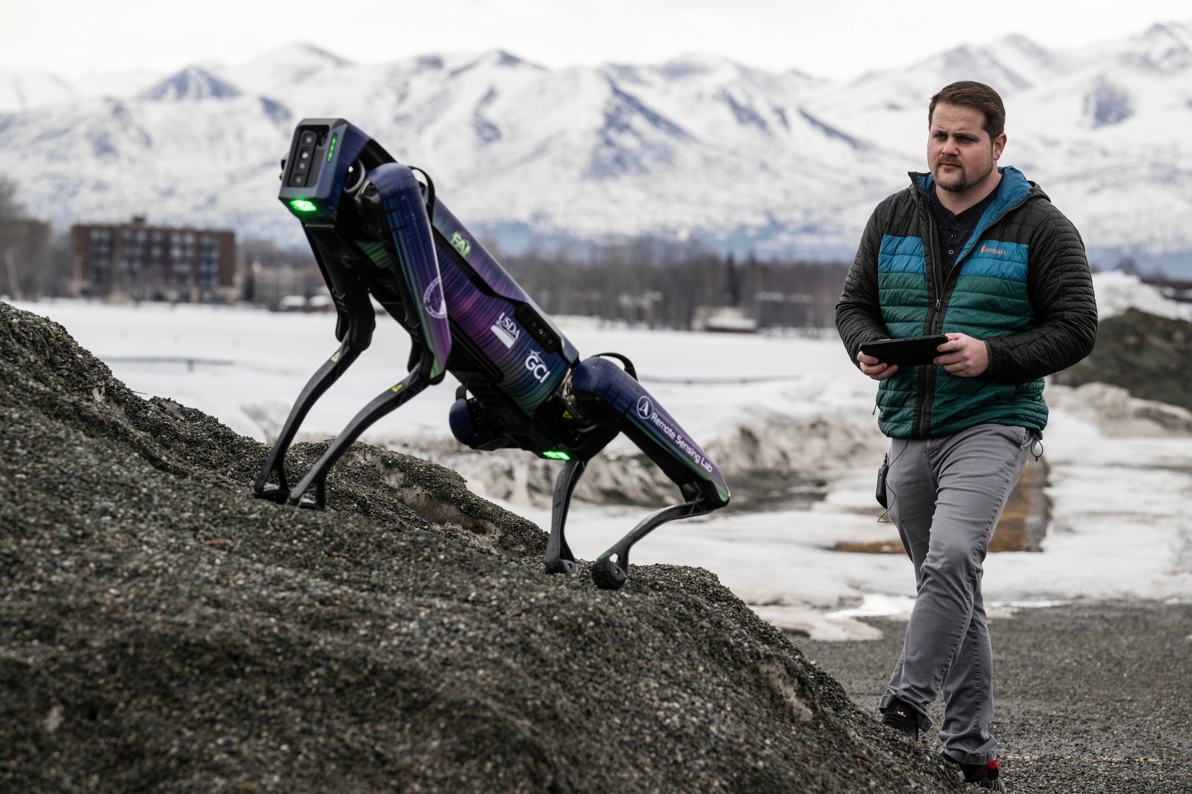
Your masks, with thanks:
[[[886,709],[896,697],[919,713],[919,727],[927,730],[926,706],[943,691],[939,740],[967,764],[998,757],[988,731],[993,650],[981,564],[1032,440],[1025,428],[977,424],[939,439],[890,443],[890,519],[914,563],[918,597],[877,707]]]

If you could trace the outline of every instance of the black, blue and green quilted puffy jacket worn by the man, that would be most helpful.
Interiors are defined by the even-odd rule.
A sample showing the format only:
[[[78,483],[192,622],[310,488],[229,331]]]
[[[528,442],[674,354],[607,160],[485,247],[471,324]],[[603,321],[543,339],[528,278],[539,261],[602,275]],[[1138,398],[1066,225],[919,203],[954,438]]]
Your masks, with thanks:
[[[1038,185],[999,168],[998,196],[946,278],[927,204],[930,174],[877,205],[836,306],[856,364],[863,342],[961,333],[983,339],[989,367],[960,378],[942,366],[900,368],[881,382],[879,427],[926,439],[993,423],[1042,432],[1043,377],[1088,355],[1097,302],[1085,247]]]

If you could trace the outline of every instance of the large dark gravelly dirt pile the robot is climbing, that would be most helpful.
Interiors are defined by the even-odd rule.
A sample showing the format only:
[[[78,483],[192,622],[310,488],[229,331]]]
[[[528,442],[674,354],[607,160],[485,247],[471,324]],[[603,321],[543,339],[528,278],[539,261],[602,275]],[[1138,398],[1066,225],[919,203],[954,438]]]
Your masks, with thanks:
[[[254,501],[265,453],[0,304],[0,789],[962,790],[707,571],[546,576],[362,445]]]

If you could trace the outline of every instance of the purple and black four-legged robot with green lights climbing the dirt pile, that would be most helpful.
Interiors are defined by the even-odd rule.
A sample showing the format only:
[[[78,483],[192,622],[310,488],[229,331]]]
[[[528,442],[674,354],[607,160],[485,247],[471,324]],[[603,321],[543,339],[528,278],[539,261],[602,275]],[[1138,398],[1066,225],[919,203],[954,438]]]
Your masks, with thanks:
[[[577,570],[564,536],[571,495],[588,461],[619,433],[678,485],[684,502],[650,514],[601,554],[592,566],[598,587],[625,584],[631,547],[659,525],[728,504],[716,464],[638,383],[629,359],[600,353],[581,361],[550,317],[435,196],[426,172],[398,163],[337,118],[302,120],[281,168],[279,198],[310,241],[335,302],[341,345],[298,396],[254,496],[322,509],[328,472],[360,434],[451,371],[461,384],[449,416],[460,442],[566,461],[554,483],[545,556],[550,573]],[[291,488],[284,461],[294,434],[315,401],[372,341],[370,296],[409,331],[409,373],[365,405]],[[269,482],[273,474],[277,483]],[[311,486],[315,498],[304,498]]]

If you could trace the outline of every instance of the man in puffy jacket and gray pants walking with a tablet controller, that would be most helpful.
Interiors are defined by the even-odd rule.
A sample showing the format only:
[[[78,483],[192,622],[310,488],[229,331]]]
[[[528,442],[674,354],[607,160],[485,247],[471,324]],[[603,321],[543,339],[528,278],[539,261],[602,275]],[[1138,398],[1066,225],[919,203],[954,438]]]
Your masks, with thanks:
[[[981,564],[1047,424],[1044,376],[1085,358],[1097,336],[1080,235],[1035,182],[998,167],[1005,119],[979,82],[931,98],[931,173],[912,173],[874,211],[836,315],[849,355],[881,382],[887,503],[918,587],[882,722],[918,739],[942,693],[944,755],[999,792]],[[859,349],[940,333],[935,366],[900,370]]]

